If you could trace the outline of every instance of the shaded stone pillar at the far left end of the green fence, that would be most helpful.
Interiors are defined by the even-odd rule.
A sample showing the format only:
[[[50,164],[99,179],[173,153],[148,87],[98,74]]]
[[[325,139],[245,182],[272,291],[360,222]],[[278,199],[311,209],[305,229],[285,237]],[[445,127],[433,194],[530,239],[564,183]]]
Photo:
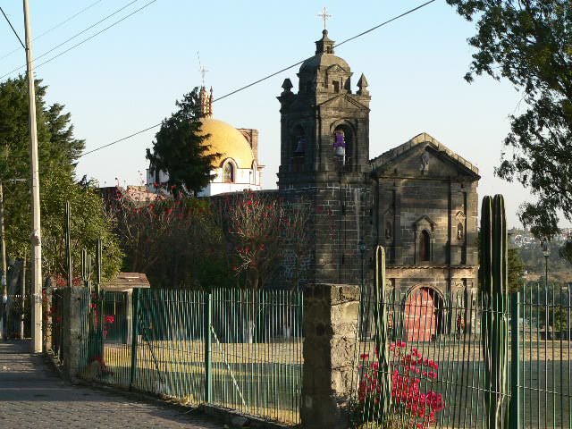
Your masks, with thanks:
[[[62,341],[63,375],[75,379],[80,372],[80,350],[82,342],[81,324],[85,323],[85,309],[82,311],[86,288],[65,288],[63,290]]]

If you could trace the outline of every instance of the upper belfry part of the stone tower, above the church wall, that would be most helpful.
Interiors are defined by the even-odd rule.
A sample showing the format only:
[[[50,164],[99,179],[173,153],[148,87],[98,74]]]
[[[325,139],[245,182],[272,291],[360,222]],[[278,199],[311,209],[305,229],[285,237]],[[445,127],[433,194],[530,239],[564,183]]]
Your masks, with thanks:
[[[300,66],[299,90],[284,80],[281,104],[280,188],[301,181],[360,181],[369,163],[369,101],[362,74],[351,90],[349,64],[334,55],[324,29],[315,55]]]

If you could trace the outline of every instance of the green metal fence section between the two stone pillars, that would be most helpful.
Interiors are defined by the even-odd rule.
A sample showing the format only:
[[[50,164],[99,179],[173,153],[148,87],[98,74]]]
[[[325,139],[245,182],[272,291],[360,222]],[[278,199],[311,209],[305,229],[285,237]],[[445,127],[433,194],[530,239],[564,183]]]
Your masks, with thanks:
[[[93,302],[98,381],[299,423],[300,292],[134,290]]]

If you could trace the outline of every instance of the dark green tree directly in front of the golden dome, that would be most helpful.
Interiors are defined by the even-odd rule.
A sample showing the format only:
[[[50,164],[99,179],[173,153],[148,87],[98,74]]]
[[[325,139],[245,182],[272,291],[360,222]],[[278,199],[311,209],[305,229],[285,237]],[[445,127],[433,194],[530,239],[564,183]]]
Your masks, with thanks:
[[[147,149],[147,159],[154,171],[169,174],[169,189],[173,194],[182,189],[195,195],[214,179],[211,174],[214,161],[221,154],[207,154],[208,135],[201,134],[200,101],[198,88],[194,88],[175,103],[179,110],[165,118],[156,133],[153,152]]]

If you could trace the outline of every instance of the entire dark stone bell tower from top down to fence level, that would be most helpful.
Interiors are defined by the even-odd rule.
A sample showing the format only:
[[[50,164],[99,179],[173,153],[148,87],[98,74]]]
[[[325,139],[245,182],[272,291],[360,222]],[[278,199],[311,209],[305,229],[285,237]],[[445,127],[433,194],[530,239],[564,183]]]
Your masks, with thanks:
[[[298,92],[290,79],[282,84],[278,187],[284,198],[312,204],[308,282],[358,284],[371,207],[371,97],[363,74],[352,92],[349,64],[334,54],[334,45],[324,29],[315,55],[299,68]]]

